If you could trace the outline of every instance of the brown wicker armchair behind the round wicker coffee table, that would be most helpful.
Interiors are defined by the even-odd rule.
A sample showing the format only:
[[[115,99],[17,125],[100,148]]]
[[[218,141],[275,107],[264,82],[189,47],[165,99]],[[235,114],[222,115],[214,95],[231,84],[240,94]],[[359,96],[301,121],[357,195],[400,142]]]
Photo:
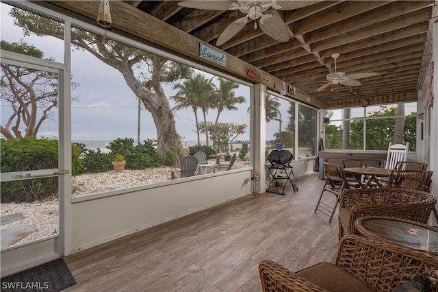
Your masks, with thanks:
[[[346,189],[339,198],[339,239],[359,234],[355,221],[364,216],[387,216],[427,223],[437,199],[407,188]]]

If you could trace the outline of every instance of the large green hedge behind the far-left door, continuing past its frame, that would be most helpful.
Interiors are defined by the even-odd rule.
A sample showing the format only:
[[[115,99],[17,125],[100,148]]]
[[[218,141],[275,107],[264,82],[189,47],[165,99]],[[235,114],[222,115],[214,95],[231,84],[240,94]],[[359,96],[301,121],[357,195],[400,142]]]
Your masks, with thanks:
[[[2,140],[1,173],[58,168],[58,141],[27,137]],[[72,175],[81,172],[83,165],[80,147],[72,147]],[[58,194],[58,178],[32,178],[1,183],[1,202],[34,202]]]

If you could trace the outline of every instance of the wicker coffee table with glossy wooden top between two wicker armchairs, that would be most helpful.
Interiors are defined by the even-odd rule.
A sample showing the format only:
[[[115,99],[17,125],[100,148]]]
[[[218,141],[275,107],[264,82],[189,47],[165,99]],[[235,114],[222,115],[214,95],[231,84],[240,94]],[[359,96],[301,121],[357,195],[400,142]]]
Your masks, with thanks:
[[[407,219],[369,216],[355,221],[359,232],[370,239],[438,254],[438,228]]]

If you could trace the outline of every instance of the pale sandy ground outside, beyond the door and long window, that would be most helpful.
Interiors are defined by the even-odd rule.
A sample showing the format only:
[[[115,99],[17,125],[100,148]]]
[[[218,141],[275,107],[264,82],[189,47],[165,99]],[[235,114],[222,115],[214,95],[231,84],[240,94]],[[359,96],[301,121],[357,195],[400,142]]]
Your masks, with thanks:
[[[216,160],[209,160],[209,164],[213,165],[215,162]],[[249,162],[237,158],[233,169],[242,167],[249,167]],[[170,180],[171,169],[175,169],[175,167],[126,169],[123,173],[106,171],[77,175],[72,178],[72,197],[154,182],[165,182]],[[18,232],[16,239],[10,241],[7,246],[20,245],[57,234],[59,232],[58,203],[57,197],[48,197],[44,201],[32,203],[1,204],[2,237],[6,230],[9,232],[17,230]],[[20,230],[23,231],[23,229],[27,232],[20,233]],[[5,244],[2,242],[2,248],[5,247]]]

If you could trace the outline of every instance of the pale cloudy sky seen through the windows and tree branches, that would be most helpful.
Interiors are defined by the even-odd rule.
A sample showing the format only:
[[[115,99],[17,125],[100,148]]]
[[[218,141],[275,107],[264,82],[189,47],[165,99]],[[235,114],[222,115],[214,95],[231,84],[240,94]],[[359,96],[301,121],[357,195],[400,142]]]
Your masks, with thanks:
[[[1,40],[17,42],[21,38],[28,44],[34,45],[44,52],[44,58],[52,57],[57,62],[64,62],[64,49],[62,40],[52,37],[23,36],[22,29],[12,25],[8,16],[9,5],[1,3]],[[202,71],[206,77],[214,75]],[[103,140],[112,141],[114,138],[134,138],[138,136],[138,99],[125,83],[122,75],[97,60],[86,51],[74,50],[72,52],[73,81],[79,86],[73,90],[72,97],[78,99],[72,104],[72,140],[88,141]],[[217,82],[215,82],[217,84]],[[164,85],[167,97],[175,95],[172,85]],[[235,91],[236,96],[244,96],[246,104],[237,105],[238,111],[224,110],[220,114],[221,122],[246,123],[249,126],[250,88],[240,84]],[[282,103],[281,112],[286,117],[287,102]],[[170,101],[170,106],[175,104]],[[5,111],[2,110],[3,114]],[[122,115],[122,119],[119,118]],[[209,110],[207,121],[216,119],[216,110]],[[142,106],[140,114],[140,141],[148,138],[156,138],[155,124],[151,113]],[[202,112],[198,110],[198,118],[202,120]],[[5,117],[1,118],[2,124]],[[194,113],[191,109],[175,111],[177,132],[182,137],[183,143],[196,141]],[[285,123],[285,121],[283,121]],[[272,121],[266,125],[267,138],[272,138],[279,128],[278,121]],[[44,121],[39,136],[57,137],[57,121]],[[203,139],[201,135],[201,140]],[[237,137],[240,140],[249,139],[249,127],[245,134]],[[201,143],[205,142],[201,141]]]

